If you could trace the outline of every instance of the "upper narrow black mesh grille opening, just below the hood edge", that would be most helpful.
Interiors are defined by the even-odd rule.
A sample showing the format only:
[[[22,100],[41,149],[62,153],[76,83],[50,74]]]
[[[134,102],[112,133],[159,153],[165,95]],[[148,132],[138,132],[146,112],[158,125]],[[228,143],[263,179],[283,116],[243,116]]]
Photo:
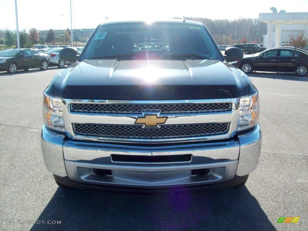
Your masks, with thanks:
[[[160,111],[164,113],[206,113],[231,111],[232,103],[155,103],[155,104],[121,104],[121,103],[71,103],[72,112],[83,113],[126,113],[140,114],[142,111]]]

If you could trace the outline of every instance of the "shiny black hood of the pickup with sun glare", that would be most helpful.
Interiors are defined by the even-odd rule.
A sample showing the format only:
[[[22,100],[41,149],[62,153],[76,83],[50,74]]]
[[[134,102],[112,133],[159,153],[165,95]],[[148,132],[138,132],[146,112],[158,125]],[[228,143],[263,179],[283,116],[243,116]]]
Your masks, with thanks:
[[[65,99],[228,99],[249,79],[219,60],[84,60],[59,72],[46,93]]]

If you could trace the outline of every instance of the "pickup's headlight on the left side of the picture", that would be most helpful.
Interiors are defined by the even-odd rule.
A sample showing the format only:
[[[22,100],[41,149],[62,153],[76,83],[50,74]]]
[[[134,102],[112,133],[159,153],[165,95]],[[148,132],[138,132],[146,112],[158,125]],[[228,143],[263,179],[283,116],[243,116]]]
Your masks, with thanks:
[[[65,131],[62,116],[62,99],[44,94],[44,124],[52,129]]]

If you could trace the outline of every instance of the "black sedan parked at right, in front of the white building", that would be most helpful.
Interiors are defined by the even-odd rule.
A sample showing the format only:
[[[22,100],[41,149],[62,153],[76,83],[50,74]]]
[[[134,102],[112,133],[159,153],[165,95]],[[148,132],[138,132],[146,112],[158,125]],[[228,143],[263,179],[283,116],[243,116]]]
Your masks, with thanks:
[[[300,47],[274,47],[231,64],[246,74],[252,71],[279,71],[305,76],[308,69],[308,51]]]

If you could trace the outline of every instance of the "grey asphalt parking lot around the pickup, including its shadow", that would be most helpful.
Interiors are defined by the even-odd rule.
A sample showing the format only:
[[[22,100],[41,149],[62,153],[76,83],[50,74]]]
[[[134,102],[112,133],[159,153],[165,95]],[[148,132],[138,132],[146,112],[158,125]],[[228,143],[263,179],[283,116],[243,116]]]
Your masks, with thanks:
[[[260,93],[263,139],[244,186],[139,195],[55,184],[39,137],[43,90],[58,71],[0,72],[1,231],[308,230],[308,77],[249,75]]]

